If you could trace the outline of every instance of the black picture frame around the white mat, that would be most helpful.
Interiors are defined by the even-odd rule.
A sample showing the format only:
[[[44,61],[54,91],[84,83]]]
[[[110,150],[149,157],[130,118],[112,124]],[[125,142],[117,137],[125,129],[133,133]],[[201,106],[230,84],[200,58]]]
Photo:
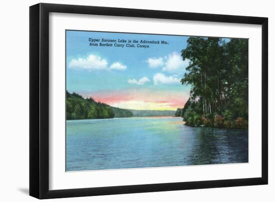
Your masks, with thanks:
[[[261,25],[261,177],[49,190],[49,12]],[[268,183],[268,18],[38,3],[29,7],[29,195],[60,198]]]

